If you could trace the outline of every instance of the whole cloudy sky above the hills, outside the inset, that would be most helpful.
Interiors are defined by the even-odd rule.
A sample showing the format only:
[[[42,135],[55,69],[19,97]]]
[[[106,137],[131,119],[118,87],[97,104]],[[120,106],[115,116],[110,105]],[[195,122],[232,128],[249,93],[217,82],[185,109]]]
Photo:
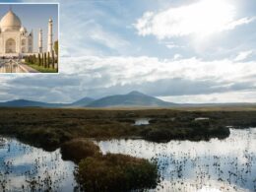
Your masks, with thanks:
[[[256,102],[254,0],[52,2],[60,3],[59,74],[1,75],[0,100],[136,90],[172,102]]]

